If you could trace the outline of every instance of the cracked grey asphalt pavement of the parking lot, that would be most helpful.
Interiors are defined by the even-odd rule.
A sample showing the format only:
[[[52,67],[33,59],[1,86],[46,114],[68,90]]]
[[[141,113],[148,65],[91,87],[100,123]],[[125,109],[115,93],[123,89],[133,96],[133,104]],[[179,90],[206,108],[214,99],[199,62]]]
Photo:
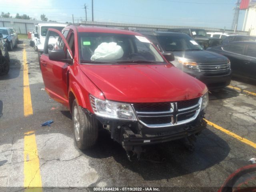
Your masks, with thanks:
[[[129,162],[123,148],[104,131],[92,150],[75,146],[70,112],[45,92],[38,54],[29,40],[20,40],[10,58],[9,74],[0,77],[0,191],[26,191],[27,182],[38,182],[43,188],[35,191],[162,187],[216,192],[232,172],[256,158],[254,85],[232,81],[231,86],[210,93],[205,118],[220,128],[208,125],[193,152],[174,141],[147,147],[141,161]],[[24,65],[33,113],[28,116],[24,116]],[[40,126],[47,120],[54,123]],[[33,141],[31,160],[26,148]]]

